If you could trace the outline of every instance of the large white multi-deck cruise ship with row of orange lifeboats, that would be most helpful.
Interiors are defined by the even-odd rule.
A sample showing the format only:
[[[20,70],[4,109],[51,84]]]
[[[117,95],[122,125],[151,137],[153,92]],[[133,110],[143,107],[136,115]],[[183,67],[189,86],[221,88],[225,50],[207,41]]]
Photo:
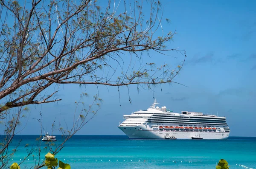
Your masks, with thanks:
[[[154,100],[147,110],[123,115],[125,121],[119,129],[131,139],[227,139],[230,134],[226,117],[189,111],[173,113],[157,104]]]

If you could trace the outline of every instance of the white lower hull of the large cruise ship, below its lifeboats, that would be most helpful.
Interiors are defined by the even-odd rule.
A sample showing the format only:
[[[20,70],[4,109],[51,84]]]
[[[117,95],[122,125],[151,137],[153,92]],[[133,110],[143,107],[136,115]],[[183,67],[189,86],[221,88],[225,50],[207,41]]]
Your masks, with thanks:
[[[227,139],[230,132],[207,132],[207,131],[168,131],[168,130],[151,130],[144,124],[138,126],[118,126],[130,139],[164,139],[166,135],[175,136],[177,139],[192,139],[198,135],[203,139]]]

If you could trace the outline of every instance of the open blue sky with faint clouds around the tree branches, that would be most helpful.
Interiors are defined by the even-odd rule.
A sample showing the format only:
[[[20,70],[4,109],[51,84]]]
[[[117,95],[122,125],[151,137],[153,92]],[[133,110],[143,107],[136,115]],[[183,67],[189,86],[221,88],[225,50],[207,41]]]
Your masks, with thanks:
[[[121,106],[117,87],[99,87],[103,99],[101,108],[79,134],[122,135],[116,126],[123,121],[122,115],[148,108],[153,96],[162,105],[174,112],[182,110],[217,114],[227,117],[230,136],[254,136],[256,104],[256,1],[163,1],[163,16],[171,22],[163,23],[164,31],[177,30],[171,48],[185,49],[187,60],[175,79],[182,85],[162,85],[152,90],[130,86],[129,102],[127,87],[120,88]],[[120,9],[121,10],[121,9]],[[147,11],[145,11],[147,13]],[[167,63],[177,66],[177,59],[154,54],[143,62]],[[81,92],[87,92],[85,105],[98,93],[96,86],[61,85],[58,103],[31,106],[26,113],[28,121],[20,134],[39,134],[40,126],[33,118],[44,114],[43,125],[50,130],[52,121],[73,119],[75,101]],[[85,91],[86,90],[86,91]],[[61,118],[60,118],[61,113]],[[64,120],[61,120],[64,124]],[[56,132],[56,134],[58,134]]]

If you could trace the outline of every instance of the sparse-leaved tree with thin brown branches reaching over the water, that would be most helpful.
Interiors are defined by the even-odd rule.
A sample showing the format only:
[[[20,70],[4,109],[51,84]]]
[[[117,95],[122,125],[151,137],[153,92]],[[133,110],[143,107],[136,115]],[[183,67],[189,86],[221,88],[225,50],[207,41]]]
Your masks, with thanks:
[[[9,125],[9,138],[0,149],[1,154],[15,135],[24,106],[61,101],[54,98],[58,90],[47,93],[46,89],[54,84],[150,87],[176,83],[173,78],[185,59],[173,69],[168,65],[157,68],[150,62],[135,68],[133,62],[123,59],[130,55],[140,60],[149,51],[180,53],[166,46],[175,32],[163,33],[161,22],[167,19],[162,17],[160,1],[148,2],[149,14],[143,13],[143,3],[109,1],[101,7],[96,0],[0,1],[2,122],[9,110],[17,107],[17,113],[4,122]],[[128,66],[123,67],[120,62]],[[99,101],[97,97],[95,101]],[[79,115],[82,127],[86,120],[82,113]],[[0,160],[2,166],[5,157]]]

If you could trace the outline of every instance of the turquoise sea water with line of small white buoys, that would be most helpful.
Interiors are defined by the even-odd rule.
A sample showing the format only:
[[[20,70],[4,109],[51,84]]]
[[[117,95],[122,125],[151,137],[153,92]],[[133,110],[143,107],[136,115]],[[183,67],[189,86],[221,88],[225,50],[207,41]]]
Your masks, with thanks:
[[[3,136],[1,136],[3,138]],[[13,147],[20,148],[12,162],[19,163],[29,149],[36,148],[37,135],[17,135]],[[56,145],[61,143],[57,136]],[[41,141],[40,141],[41,142]],[[41,142],[42,155],[47,143]],[[34,155],[34,156],[33,156]],[[230,169],[242,166],[256,169],[256,137],[230,137],[227,140],[130,140],[125,135],[74,135],[56,156],[72,169],[215,169],[225,159]],[[38,159],[32,153],[21,169],[30,169]],[[32,167],[33,168],[33,167]],[[46,168],[46,167],[44,167]]]

